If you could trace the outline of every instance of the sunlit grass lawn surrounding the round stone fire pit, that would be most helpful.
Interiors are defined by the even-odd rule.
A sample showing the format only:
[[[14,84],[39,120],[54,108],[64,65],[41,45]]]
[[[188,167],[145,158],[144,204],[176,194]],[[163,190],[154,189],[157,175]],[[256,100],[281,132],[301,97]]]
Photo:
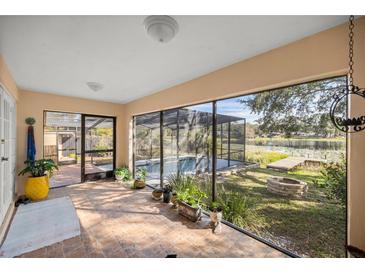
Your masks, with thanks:
[[[266,189],[269,176],[287,176],[307,182],[303,199],[288,199]],[[245,228],[277,245],[309,257],[344,257],[345,207],[326,198],[318,170],[289,173],[265,168],[230,175],[217,184],[218,192],[239,192],[254,201]],[[314,183],[316,182],[316,183]]]

